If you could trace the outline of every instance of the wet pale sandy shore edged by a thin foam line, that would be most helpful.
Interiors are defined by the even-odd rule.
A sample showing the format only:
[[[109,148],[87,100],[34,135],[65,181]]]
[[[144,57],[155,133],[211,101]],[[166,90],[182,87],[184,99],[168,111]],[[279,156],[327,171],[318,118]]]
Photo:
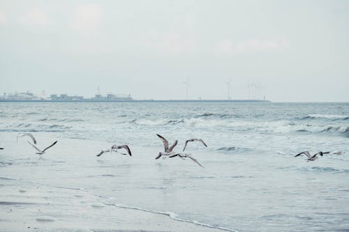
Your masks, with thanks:
[[[172,212],[153,212],[108,203],[107,197],[91,194],[79,188],[13,178],[0,177],[0,179],[2,180],[0,220],[4,232],[24,229],[128,232],[233,231],[178,219]]]

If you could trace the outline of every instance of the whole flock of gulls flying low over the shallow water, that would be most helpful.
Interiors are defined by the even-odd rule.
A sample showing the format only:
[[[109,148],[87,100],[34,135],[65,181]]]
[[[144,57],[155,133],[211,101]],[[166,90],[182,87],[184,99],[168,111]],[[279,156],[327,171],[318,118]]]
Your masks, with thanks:
[[[167,139],[165,139],[160,134],[156,134],[156,135],[161,139],[161,141],[163,142],[163,146],[164,146],[164,151],[158,153],[158,155],[155,157],[156,160],[158,160],[160,157],[163,157],[163,160],[165,160],[166,157],[170,157],[170,158],[180,157],[182,160],[185,160],[186,158],[189,158],[190,160],[193,160],[193,162],[198,164],[200,167],[203,167],[200,164],[200,162],[198,162],[198,160],[196,160],[192,156],[192,154],[184,153],[184,150],[186,150],[186,146],[188,145],[188,142],[192,142],[192,141],[199,141],[201,144],[203,144],[205,147],[207,147],[207,144],[205,144],[205,141],[203,141],[202,139],[195,139],[195,138],[188,139],[188,140],[186,140],[186,142],[184,144],[184,148],[183,148],[182,152],[181,153],[177,153],[173,149],[177,146],[178,140],[174,141],[172,146],[169,147]],[[37,151],[36,154],[38,154],[38,155],[45,154],[46,150],[48,150],[49,148],[52,148],[52,146],[57,144],[57,141],[54,141],[50,146],[47,146],[46,148],[44,148],[42,150],[42,149],[38,148],[38,146],[36,145],[37,142],[36,142],[36,139],[35,139],[33,134],[31,134],[31,133],[20,133],[20,134],[17,134],[17,142],[18,142],[18,139],[20,139],[22,137],[29,137],[31,139],[33,144],[30,141],[28,141],[28,143],[36,149],[36,151]],[[3,149],[4,148],[0,148],[0,150],[3,150]],[[119,151],[120,149],[126,150],[126,153],[121,153]],[[123,145],[113,145],[113,146],[111,146],[110,149],[101,150],[96,156],[100,157],[104,153],[119,153],[121,155],[130,155],[130,156],[132,156],[131,149],[126,144],[123,144]],[[307,157],[306,161],[309,162],[309,161],[318,160],[318,155],[320,155],[320,156],[323,156],[325,154],[342,155],[343,153],[345,153],[345,152],[344,151],[337,151],[337,152],[329,152],[329,151],[322,152],[322,151],[319,151],[318,153],[315,153],[314,155],[311,155],[309,153],[309,151],[306,150],[306,151],[302,151],[301,153],[298,153],[297,155],[295,155],[295,157],[298,157],[300,155],[305,155]]]

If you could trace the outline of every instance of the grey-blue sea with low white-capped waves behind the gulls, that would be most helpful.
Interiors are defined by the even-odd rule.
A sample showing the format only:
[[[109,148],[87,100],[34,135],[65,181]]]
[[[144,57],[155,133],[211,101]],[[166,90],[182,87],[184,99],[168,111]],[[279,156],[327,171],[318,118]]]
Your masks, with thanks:
[[[58,142],[39,157],[21,132]],[[205,141],[185,150],[203,167],[156,160],[156,134],[177,152]],[[114,144],[132,156],[96,157]],[[349,103],[0,102],[0,147],[0,183],[75,188],[222,231],[349,231]],[[331,153],[295,157],[305,150]]]

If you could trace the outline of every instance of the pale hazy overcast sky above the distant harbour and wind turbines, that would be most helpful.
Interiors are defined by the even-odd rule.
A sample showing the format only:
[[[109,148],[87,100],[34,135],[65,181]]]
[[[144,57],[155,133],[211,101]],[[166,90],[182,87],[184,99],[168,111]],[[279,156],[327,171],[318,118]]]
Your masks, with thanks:
[[[0,0],[0,94],[349,102],[349,1]],[[188,91],[187,91],[188,90]]]

